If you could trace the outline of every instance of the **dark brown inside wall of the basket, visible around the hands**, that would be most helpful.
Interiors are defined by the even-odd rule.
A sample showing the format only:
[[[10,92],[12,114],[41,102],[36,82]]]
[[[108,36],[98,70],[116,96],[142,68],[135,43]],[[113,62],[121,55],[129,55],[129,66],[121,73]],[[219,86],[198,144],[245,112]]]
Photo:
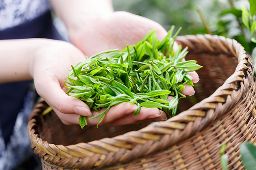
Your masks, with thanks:
[[[209,53],[188,54],[186,60],[197,60],[203,68],[197,71],[200,81],[195,84],[195,95],[181,99],[178,112],[187,110],[197,102],[209,97],[224,81],[232,75],[237,66],[237,58],[227,55],[216,55]],[[132,130],[139,130],[149,123],[141,125],[127,125],[104,127],[85,126],[83,129],[79,125],[64,125],[54,112],[44,117],[44,122],[39,126],[39,135],[48,143],[70,145],[80,142],[102,139],[104,137],[114,137]]]

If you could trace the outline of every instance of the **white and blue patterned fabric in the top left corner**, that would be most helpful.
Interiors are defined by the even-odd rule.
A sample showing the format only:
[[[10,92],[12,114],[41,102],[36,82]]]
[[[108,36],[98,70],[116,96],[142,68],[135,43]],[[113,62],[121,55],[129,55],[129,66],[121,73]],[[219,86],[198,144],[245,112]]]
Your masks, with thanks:
[[[30,21],[48,9],[47,0],[0,0],[0,30]]]

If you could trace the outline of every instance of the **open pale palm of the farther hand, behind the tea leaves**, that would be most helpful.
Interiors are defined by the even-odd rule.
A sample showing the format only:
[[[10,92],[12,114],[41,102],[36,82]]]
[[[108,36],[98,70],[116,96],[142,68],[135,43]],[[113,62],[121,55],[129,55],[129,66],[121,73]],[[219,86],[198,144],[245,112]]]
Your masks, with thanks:
[[[89,57],[104,50],[123,49],[127,44],[136,44],[152,29],[156,30],[159,38],[167,34],[160,24],[121,11],[98,17],[82,29],[71,33],[70,40]]]

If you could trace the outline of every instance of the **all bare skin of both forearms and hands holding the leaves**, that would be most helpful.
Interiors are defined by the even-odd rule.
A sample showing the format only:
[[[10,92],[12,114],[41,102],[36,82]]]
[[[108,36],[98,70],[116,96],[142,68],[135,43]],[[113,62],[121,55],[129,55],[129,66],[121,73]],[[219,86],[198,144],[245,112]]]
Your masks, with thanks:
[[[70,65],[85,60],[84,55],[91,56],[107,49],[123,49],[126,44],[136,44],[152,29],[156,30],[160,39],[167,32],[148,18],[123,11],[114,12],[109,0],[50,2],[65,22],[74,45],[42,38],[0,40],[0,68],[3,73],[0,82],[33,79],[37,93],[52,106],[60,120],[64,124],[78,124],[80,115],[92,117],[98,112],[91,112],[87,104],[65,94],[67,89],[63,79],[67,77]],[[199,80],[196,72],[189,74],[194,82]],[[186,86],[182,93],[193,95],[195,91],[193,87]],[[139,115],[133,116],[136,109],[136,105],[127,102],[113,106],[100,125],[117,126],[167,119],[165,113],[157,108],[142,107]],[[88,125],[96,125],[99,119],[87,119]]]

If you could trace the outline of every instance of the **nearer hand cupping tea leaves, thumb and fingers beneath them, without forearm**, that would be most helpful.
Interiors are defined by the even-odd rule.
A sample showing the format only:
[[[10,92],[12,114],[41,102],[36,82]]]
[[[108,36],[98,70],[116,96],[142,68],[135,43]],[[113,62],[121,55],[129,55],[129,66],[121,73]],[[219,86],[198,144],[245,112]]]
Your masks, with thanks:
[[[63,79],[67,78],[71,64],[85,60],[83,53],[67,42],[48,41],[37,50],[30,64],[37,93],[53,108],[64,124],[78,124],[80,115],[91,117],[98,114],[95,111],[91,113],[89,106],[84,102],[65,94],[67,89]],[[166,119],[164,112],[157,108],[141,108],[141,113],[133,116],[132,113],[136,109],[136,105],[127,102],[113,106],[100,125],[115,126]],[[100,110],[103,111],[104,109]],[[88,125],[96,125],[98,119],[88,119]]]

